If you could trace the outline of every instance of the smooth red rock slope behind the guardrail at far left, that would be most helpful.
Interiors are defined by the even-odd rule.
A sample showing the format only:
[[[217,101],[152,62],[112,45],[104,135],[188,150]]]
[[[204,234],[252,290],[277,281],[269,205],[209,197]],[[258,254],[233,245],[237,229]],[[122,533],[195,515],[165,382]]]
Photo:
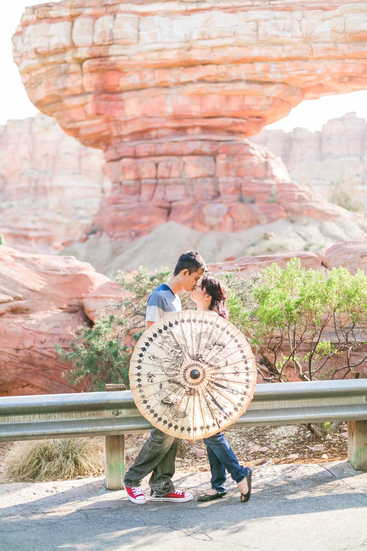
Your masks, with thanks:
[[[0,396],[74,392],[54,344],[88,321],[81,296],[108,279],[73,257],[0,247]]]

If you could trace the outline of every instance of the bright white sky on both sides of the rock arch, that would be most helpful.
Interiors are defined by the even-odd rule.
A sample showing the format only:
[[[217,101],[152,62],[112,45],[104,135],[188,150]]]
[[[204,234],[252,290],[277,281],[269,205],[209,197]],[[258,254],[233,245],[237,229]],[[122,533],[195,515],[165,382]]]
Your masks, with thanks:
[[[42,0],[36,3],[42,3]],[[10,118],[26,118],[37,113],[28,99],[12,56],[12,35],[25,7],[32,5],[32,0],[0,0],[0,125]],[[315,132],[321,130],[330,118],[341,117],[350,111],[367,120],[367,90],[303,101],[287,117],[268,128],[291,132],[300,126]]]

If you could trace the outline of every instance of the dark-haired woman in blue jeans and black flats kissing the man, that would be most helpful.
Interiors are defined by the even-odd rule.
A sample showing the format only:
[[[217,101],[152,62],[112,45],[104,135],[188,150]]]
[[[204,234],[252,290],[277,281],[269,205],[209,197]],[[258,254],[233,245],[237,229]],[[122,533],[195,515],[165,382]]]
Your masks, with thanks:
[[[226,298],[226,287],[213,276],[205,276],[201,284],[191,291],[191,299],[196,303],[199,311],[214,312],[228,320]],[[210,464],[211,489],[205,495],[201,495],[198,501],[211,501],[227,494],[226,469],[237,482],[241,501],[248,501],[251,495],[251,469],[239,464],[223,433],[204,438],[204,442]]]

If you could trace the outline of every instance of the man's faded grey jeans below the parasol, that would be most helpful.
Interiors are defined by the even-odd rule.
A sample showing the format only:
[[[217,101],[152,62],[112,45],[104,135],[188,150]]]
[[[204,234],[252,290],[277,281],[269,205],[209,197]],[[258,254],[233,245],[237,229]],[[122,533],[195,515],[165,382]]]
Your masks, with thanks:
[[[159,429],[153,429],[138,457],[125,473],[125,485],[130,488],[140,486],[141,480],[153,471],[149,485],[157,496],[162,497],[174,491],[171,479],[174,474],[177,445],[177,438],[162,433]]]

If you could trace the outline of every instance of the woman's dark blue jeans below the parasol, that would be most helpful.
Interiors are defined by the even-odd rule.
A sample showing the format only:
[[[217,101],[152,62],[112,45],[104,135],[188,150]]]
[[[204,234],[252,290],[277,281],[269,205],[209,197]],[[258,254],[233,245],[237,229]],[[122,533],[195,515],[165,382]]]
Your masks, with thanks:
[[[211,471],[211,487],[217,490],[218,494],[227,491],[226,469],[235,482],[241,482],[248,474],[249,469],[238,463],[234,451],[224,438],[224,434],[218,433],[204,438],[207,446],[207,454]]]

